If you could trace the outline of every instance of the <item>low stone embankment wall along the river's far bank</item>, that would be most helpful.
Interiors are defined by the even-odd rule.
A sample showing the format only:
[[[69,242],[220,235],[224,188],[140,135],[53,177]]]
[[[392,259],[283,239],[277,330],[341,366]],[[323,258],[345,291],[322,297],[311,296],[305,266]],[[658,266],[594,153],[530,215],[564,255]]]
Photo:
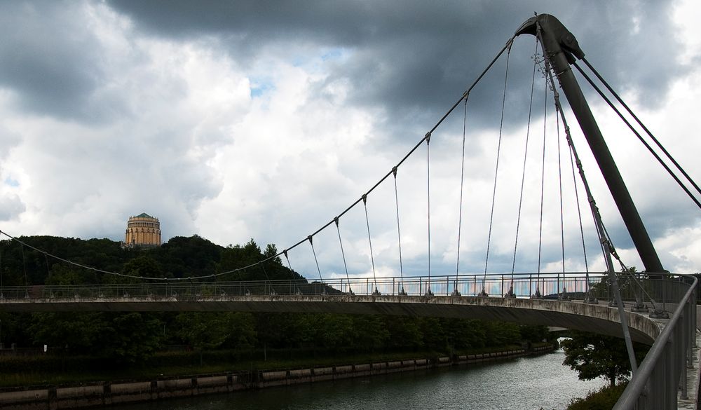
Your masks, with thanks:
[[[149,400],[172,397],[207,395],[236,390],[391,374],[400,371],[468,365],[546,353],[554,350],[554,348],[555,346],[542,346],[531,350],[515,349],[475,355],[346,364],[343,366],[313,367],[310,369],[237,371],[226,374],[164,378],[154,381],[98,382],[36,388],[1,388],[0,410],[61,410],[147,402]]]

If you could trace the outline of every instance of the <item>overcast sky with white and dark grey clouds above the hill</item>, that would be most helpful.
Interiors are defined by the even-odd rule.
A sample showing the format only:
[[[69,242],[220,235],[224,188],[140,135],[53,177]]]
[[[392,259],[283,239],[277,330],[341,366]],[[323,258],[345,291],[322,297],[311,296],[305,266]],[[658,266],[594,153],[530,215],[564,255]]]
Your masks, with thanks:
[[[197,234],[226,246],[253,238],[283,250],[391,170],[534,12],[575,34],[701,181],[695,0],[2,1],[0,229],[123,240],[128,217],[147,212],[160,219],[164,240]],[[461,273],[484,271],[500,128],[489,271],[536,271],[539,243],[541,270],[562,271],[561,238],[566,270],[585,269],[562,129],[561,230],[557,123],[540,73],[529,121],[535,50],[532,36],[514,43],[503,128],[505,58],[470,95]],[[701,271],[701,211],[583,88],[662,264]],[[457,266],[464,112],[458,107],[430,139],[433,275]],[[576,120],[568,121],[604,223],[625,263],[640,268]],[[425,145],[397,173],[404,274],[428,271],[427,173]],[[601,269],[578,189],[587,263]],[[367,212],[377,275],[398,275],[393,178],[369,196]],[[351,275],[372,274],[362,203],[339,227]],[[335,225],[314,246],[323,275],[345,276]],[[308,244],[290,262],[318,275]]]

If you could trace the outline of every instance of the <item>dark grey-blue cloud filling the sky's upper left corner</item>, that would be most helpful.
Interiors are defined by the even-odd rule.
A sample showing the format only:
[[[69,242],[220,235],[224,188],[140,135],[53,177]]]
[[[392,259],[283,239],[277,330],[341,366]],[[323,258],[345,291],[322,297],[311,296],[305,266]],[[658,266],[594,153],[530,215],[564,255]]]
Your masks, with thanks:
[[[93,98],[104,79],[100,42],[69,1],[0,5],[0,87],[19,107],[39,115],[100,121],[114,101]]]

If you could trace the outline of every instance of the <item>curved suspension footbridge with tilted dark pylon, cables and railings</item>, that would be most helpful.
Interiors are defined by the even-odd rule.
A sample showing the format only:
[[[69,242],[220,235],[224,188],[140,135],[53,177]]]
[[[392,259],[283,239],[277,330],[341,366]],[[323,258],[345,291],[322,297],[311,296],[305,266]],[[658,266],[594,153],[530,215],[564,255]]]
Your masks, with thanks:
[[[507,109],[507,95],[509,84],[509,61],[512,47],[517,36],[532,35],[536,39],[536,53],[533,55],[533,71],[531,86],[531,101],[529,102],[528,127],[523,151],[517,160],[510,158],[510,163],[517,163],[516,169],[522,172],[514,175],[513,172],[505,172],[503,169],[505,161],[509,161],[505,152],[509,151],[503,146],[503,130],[505,128],[505,111]],[[542,53],[538,51],[542,50]],[[482,206],[484,213],[473,216],[470,219],[472,231],[475,226],[483,226],[486,231],[486,244],[479,247],[484,251],[484,271],[480,273],[465,274],[461,272],[461,257],[465,262],[465,255],[475,256],[474,250],[465,250],[461,244],[465,242],[465,224],[467,214],[463,210],[465,205],[465,180],[468,175],[465,172],[465,142],[468,129],[468,101],[472,90],[480,83],[484,76],[489,75],[498,62],[505,61],[503,71],[503,93],[501,94],[501,122],[498,125],[499,131],[496,135],[496,156],[494,158],[494,172],[488,178],[482,178],[482,182],[491,179],[493,182],[489,191],[491,196],[484,200]],[[585,64],[589,73],[578,65],[578,61]],[[586,81],[592,84],[595,90],[601,93],[602,97],[611,104],[615,112],[621,116],[629,127],[634,129],[633,123],[637,122],[638,127],[644,131],[634,130],[633,132],[651,149],[655,158],[660,160],[663,167],[670,172],[673,179],[690,196],[690,198],[701,207],[693,191],[701,193],[701,189],[693,182],[674,158],[658,143],[655,137],[642,125],[631,110],[615,94],[613,88],[608,86],[592,65],[585,59],[585,53],[578,45],[575,36],[567,30],[562,23],[551,15],[536,15],[530,18],[517,29],[499,52],[477,76],[472,85],[465,90],[458,101],[440,118],[433,128],[419,139],[402,159],[379,179],[368,191],[362,193],[360,198],[355,200],[343,212],[336,214],[326,224],[318,230],[302,237],[299,242],[287,247],[282,252],[270,255],[268,259],[257,261],[254,264],[236,268],[230,271],[212,273],[209,275],[191,276],[182,278],[147,278],[141,275],[131,275],[130,273],[111,272],[86,264],[76,263],[65,259],[60,255],[49,254],[46,251],[33,248],[44,254],[48,259],[59,260],[63,264],[73,268],[92,271],[95,275],[116,278],[111,284],[77,284],[77,285],[32,285],[27,282],[25,272],[25,283],[13,286],[0,284],[0,310],[12,312],[35,312],[35,311],[249,311],[249,312],[326,312],[326,313],[369,313],[380,315],[418,315],[437,317],[471,317],[490,320],[507,320],[519,323],[547,324],[552,326],[566,327],[571,329],[582,329],[601,334],[620,336],[627,342],[628,353],[633,371],[632,380],[622,395],[616,409],[676,409],[681,401],[688,397],[695,397],[696,392],[689,389],[689,385],[694,385],[693,380],[697,380],[698,369],[688,371],[693,367],[694,352],[697,340],[695,329],[696,318],[696,279],[683,275],[674,275],[665,271],[658,254],[655,252],[653,243],[641,220],[639,213],[627,191],[625,183],[618,172],[618,168],[613,161],[611,153],[608,151],[606,142],[602,135],[597,121],[595,121],[590,110],[585,95],[580,89],[575,77],[574,70],[580,72]],[[543,79],[543,135],[542,150],[533,151],[533,135],[536,131],[531,130],[531,122],[535,123],[531,114],[535,111],[534,96],[536,95],[535,84],[536,74],[540,73]],[[597,78],[602,84],[597,86]],[[606,88],[613,97],[606,97],[602,88]],[[569,102],[569,110],[564,107],[561,101],[559,90],[562,90],[566,101]],[[621,109],[617,108],[613,100],[618,101]],[[547,101],[554,103],[555,111],[550,116],[547,115]],[[463,106],[463,126],[462,126],[462,156],[459,172],[459,181],[454,189],[449,190],[444,196],[437,195],[432,182],[432,165],[435,172],[435,159],[432,162],[430,147],[439,144],[435,142],[440,132],[440,127],[444,125],[447,118],[456,116]],[[627,111],[627,115],[624,111]],[[629,232],[630,238],[638,251],[640,260],[644,265],[643,273],[634,273],[620,259],[613,246],[604,218],[601,217],[594,193],[590,183],[585,176],[583,162],[575,147],[575,142],[571,135],[571,128],[568,125],[568,116],[573,116],[580,125],[582,133],[586,139],[592,155],[596,160],[601,175],[603,175],[606,185],[613,197],[615,205],[620,211],[620,217]],[[634,118],[634,119],[627,119]],[[532,120],[532,121],[531,121]],[[554,225],[559,225],[559,247],[562,252],[561,264],[558,269],[545,266],[545,240],[544,228],[547,221],[543,220],[545,210],[545,189],[546,180],[546,135],[548,123],[555,123],[554,132],[557,138],[556,144],[551,149],[552,156],[557,166],[553,168],[557,173],[557,184],[554,191],[554,198],[559,208],[559,221]],[[653,141],[646,142],[646,138]],[[529,138],[531,139],[531,151],[529,151]],[[430,144],[433,142],[433,145]],[[658,149],[653,145],[658,144]],[[564,149],[563,149],[564,147]],[[551,147],[552,148],[552,147]],[[659,151],[662,153],[658,153]],[[566,155],[564,155],[564,153]],[[398,175],[412,175],[416,171],[407,170],[409,165],[416,165],[415,158],[419,158],[419,153],[425,153],[426,162],[418,163],[421,172],[425,171],[426,177],[421,179],[421,184],[411,180],[408,186],[411,191],[410,200],[400,200],[400,184],[397,183]],[[565,233],[564,233],[564,210],[569,207],[564,205],[564,163],[563,157],[569,156],[571,165],[572,184],[569,188],[573,197],[572,209],[570,212],[576,215],[577,231],[575,237],[581,238],[581,248],[583,250],[583,261],[578,264],[580,272],[572,272],[566,269],[566,261],[571,259],[565,256]],[[667,160],[661,157],[667,156]],[[529,180],[533,179],[531,173],[533,165],[529,160],[540,158],[540,164],[536,168],[536,188],[535,191],[526,191]],[[550,158],[550,157],[548,157]],[[411,160],[409,160],[411,159]],[[668,165],[671,163],[672,165]],[[675,168],[672,171],[671,168]],[[501,168],[501,170],[500,170]],[[513,170],[514,168],[507,168]],[[484,172],[484,170],[480,170]],[[547,172],[551,175],[552,171]],[[508,175],[504,175],[504,174]],[[505,179],[512,179],[515,182],[509,189],[509,203],[515,212],[515,224],[511,227],[512,234],[508,236],[514,238],[512,247],[511,266],[500,266],[494,271],[494,253],[498,252],[496,226],[500,224],[503,215],[499,213],[501,207],[497,203],[498,187],[503,191]],[[421,186],[426,184],[425,186]],[[384,189],[384,191],[381,191]],[[426,196],[418,195],[416,192],[423,191]],[[384,193],[384,196],[383,196]],[[387,194],[388,193],[388,194]],[[421,198],[423,196],[423,198]],[[379,200],[374,198],[378,197]],[[382,199],[383,198],[383,199]],[[421,198],[418,204],[419,211],[415,209],[407,210],[408,207],[416,205],[416,199]],[[526,200],[536,198],[533,206],[536,217],[526,215]],[[372,200],[369,200],[372,199]],[[455,238],[453,242],[435,238],[436,224],[444,223],[447,200],[458,199],[458,212],[450,223],[456,226]],[[387,275],[383,273],[379,257],[387,254],[388,231],[384,229],[383,235],[374,236],[371,218],[369,217],[369,207],[372,210],[373,203],[383,200],[385,205],[393,211],[395,219],[396,261],[399,275]],[[583,203],[585,205],[583,205]],[[402,211],[400,212],[400,205]],[[372,212],[372,211],[371,211]],[[416,253],[416,237],[407,235],[407,226],[402,225],[402,214],[414,214],[423,212],[422,224],[426,226],[425,242],[426,270],[425,274],[416,274],[416,268],[405,266],[406,254]],[[352,215],[357,217],[353,222]],[[604,270],[600,272],[590,271],[592,264],[592,254],[587,256],[587,245],[585,243],[585,222],[583,214],[591,214],[590,226],[594,233],[595,248],[601,252],[600,265]],[[358,217],[360,215],[360,217]],[[433,221],[432,221],[433,217]],[[538,221],[537,223],[535,221]],[[358,275],[351,276],[354,270],[353,260],[358,255],[348,252],[351,244],[344,238],[342,226],[348,223],[362,224],[367,228],[367,248],[362,251],[361,256],[367,257],[368,267],[365,272],[367,277],[359,278]],[[402,227],[404,229],[402,229]],[[402,233],[404,231],[404,233]],[[432,231],[434,237],[432,238]],[[537,233],[537,241],[533,240],[530,245],[524,245],[524,235],[526,231]],[[555,229],[557,232],[557,229]],[[8,237],[16,240],[24,247],[30,247],[20,238],[14,238],[7,233]],[[546,233],[547,234],[547,233]],[[336,266],[342,267],[332,275],[322,270],[320,264],[320,253],[318,252],[320,243],[325,245],[330,242],[329,237],[334,240],[337,246],[339,261]],[[358,238],[353,240],[353,250],[358,250]],[[411,240],[409,240],[411,239]],[[519,242],[521,240],[521,242]],[[403,241],[403,242],[402,242]],[[437,251],[437,242],[450,242],[445,250]],[[537,244],[537,245],[536,245]],[[375,245],[375,247],[373,247]],[[402,248],[402,245],[404,246]],[[379,249],[380,248],[380,252]],[[524,248],[527,251],[524,251]],[[404,255],[402,255],[402,249]],[[537,252],[536,252],[537,250]],[[519,251],[521,254],[519,254]],[[291,261],[295,257],[301,257],[304,252],[306,257],[313,257],[315,273],[308,276],[306,280],[264,280],[264,281],[232,281],[231,278],[246,270],[253,268],[265,269],[266,264],[283,263],[292,270]],[[438,254],[440,252],[440,254]],[[503,250],[501,250],[503,253]],[[444,271],[447,254],[454,254],[454,271]],[[537,261],[537,268],[533,272],[516,271],[517,259],[524,258],[524,254],[529,253],[529,260]],[[536,256],[533,256],[536,255]],[[490,257],[492,259],[490,259]],[[433,262],[433,268],[432,268]],[[620,264],[623,273],[617,274],[614,263]],[[491,266],[490,266],[491,264]],[[555,264],[557,265],[557,264]],[[436,268],[440,266],[440,268]],[[48,262],[47,262],[48,267]],[[491,270],[490,270],[491,268]],[[0,274],[2,269],[0,267]],[[405,274],[406,273],[406,274]],[[315,276],[318,275],[318,278]],[[313,279],[311,279],[313,277]],[[622,286],[620,280],[626,281],[626,286]],[[116,282],[116,283],[114,283]],[[652,345],[646,359],[638,367],[634,359],[632,341],[641,341]],[[697,353],[696,353],[697,354]],[[695,374],[695,378],[689,378],[688,374]],[[678,387],[681,386],[681,389]],[[691,390],[691,391],[690,391]]]

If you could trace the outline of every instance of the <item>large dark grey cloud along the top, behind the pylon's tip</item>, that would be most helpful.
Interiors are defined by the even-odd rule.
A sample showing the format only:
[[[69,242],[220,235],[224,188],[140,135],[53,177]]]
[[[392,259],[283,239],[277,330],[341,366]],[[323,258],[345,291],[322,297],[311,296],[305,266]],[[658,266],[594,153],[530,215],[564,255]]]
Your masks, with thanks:
[[[352,50],[327,83],[352,84],[351,102],[386,109],[393,134],[426,128],[486,67],[515,29],[534,11],[558,17],[578,37],[590,60],[620,90],[635,89],[656,104],[680,67],[665,57],[678,46],[668,1],[552,4],[545,1],[426,1],[299,3],[244,1],[111,1],[139,29],[169,37],[215,35],[246,64],[274,43]],[[505,11],[508,10],[508,13]],[[639,29],[636,29],[639,27]],[[510,84],[515,101],[530,91],[531,39],[511,69],[524,75]],[[525,58],[524,58],[525,57]],[[628,68],[636,67],[634,74]],[[641,69],[639,69],[641,68]],[[474,98],[501,90],[502,75],[487,76]],[[320,85],[320,87],[322,87]],[[514,104],[517,115],[527,104]],[[492,125],[499,109],[475,107],[477,125]],[[397,125],[400,124],[400,125]],[[511,123],[513,126],[518,122]]]

